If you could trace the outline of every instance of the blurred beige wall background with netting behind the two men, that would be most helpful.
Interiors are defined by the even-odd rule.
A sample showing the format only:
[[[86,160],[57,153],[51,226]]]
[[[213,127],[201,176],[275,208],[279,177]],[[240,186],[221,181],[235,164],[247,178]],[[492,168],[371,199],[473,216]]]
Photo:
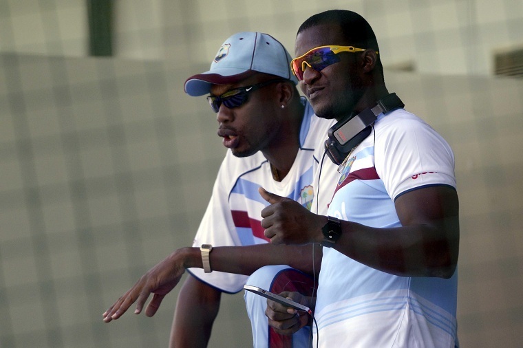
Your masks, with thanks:
[[[372,25],[389,91],[456,154],[462,347],[523,345],[520,0],[0,0],[0,347],[167,347],[153,318],[102,313],[189,246],[225,149],[183,91],[240,31],[294,53],[332,8]],[[243,294],[210,347],[252,347]]]

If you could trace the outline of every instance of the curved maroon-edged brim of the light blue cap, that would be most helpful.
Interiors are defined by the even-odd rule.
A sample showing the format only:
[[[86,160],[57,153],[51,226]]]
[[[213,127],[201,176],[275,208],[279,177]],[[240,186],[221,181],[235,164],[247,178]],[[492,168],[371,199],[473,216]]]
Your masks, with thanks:
[[[187,78],[184,90],[189,96],[203,96],[204,94],[209,94],[211,85],[237,83],[256,73],[253,70],[247,70],[238,74],[238,69],[214,69],[213,72],[204,72]]]

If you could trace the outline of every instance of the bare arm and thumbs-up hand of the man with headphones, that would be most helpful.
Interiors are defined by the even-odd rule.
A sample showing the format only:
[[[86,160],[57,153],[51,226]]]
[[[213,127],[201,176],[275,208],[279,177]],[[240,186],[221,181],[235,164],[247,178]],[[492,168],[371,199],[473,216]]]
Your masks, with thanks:
[[[327,217],[315,215],[291,199],[260,188],[272,205],[261,211],[271,243],[321,243]],[[449,278],[459,245],[458,195],[447,186],[418,188],[396,199],[398,228],[371,228],[341,221],[341,238],[332,248],[376,270],[398,276]]]

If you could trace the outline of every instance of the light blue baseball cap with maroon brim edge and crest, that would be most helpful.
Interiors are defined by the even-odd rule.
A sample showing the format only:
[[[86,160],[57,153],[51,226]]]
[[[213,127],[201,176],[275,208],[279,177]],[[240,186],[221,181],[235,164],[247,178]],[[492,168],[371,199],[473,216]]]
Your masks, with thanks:
[[[237,83],[256,72],[287,78],[297,84],[290,71],[292,58],[273,36],[261,32],[234,34],[218,50],[208,72],[191,76],[184,90],[189,96],[209,94],[211,85]]]

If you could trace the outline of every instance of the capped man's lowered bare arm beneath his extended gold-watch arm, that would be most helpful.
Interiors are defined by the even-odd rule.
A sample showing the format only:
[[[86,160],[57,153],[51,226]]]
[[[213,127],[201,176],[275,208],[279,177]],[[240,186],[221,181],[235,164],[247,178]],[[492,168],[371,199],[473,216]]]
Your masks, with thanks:
[[[189,275],[180,290],[169,347],[207,347],[221,292]]]

